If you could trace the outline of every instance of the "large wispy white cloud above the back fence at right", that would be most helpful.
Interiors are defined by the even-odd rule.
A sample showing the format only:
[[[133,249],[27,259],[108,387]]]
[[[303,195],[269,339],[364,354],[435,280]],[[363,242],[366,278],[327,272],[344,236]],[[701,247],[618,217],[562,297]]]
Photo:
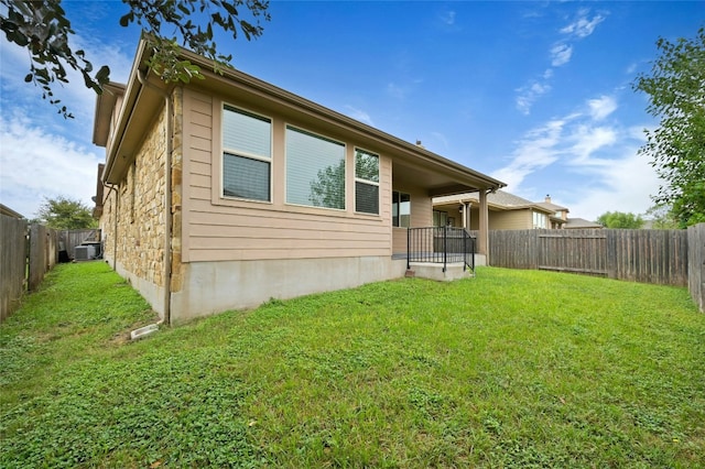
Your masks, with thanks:
[[[492,176],[528,198],[540,184],[541,192],[568,207],[572,217],[594,220],[608,210],[643,214],[660,179],[649,159],[638,154],[644,141],[642,128],[596,124],[616,107],[607,96],[589,99],[583,112],[527,132],[509,164]],[[555,177],[551,166],[561,166],[567,174]]]

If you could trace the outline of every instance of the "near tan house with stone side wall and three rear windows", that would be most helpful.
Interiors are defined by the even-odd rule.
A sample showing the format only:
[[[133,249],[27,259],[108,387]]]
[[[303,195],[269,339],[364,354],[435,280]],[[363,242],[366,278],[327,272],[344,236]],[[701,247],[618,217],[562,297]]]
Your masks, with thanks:
[[[106,262],[166,323],[403,276],[433,197],[479,192],[481,212],[505,186],[185,50],[205,79],[165,84],[151,54],[98,97],[95,212]]]

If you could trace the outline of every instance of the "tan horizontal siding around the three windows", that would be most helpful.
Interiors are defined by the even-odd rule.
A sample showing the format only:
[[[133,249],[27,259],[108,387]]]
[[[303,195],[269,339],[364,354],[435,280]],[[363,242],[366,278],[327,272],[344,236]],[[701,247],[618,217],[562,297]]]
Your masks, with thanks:
[[[238,106],[237,99],[224,99]],[[380,214],[355,214],[354,149],[346,143],[346,209],[285,203],[285,124],[274,110],[242,106],[272,120],[272,201],[220,197],[219,98],[184,90],[184,262],[391,255],[391,160],[380,154]],[[373,151],[375,149],[369,149]],[[187,162],[187,163],[186,163]]]

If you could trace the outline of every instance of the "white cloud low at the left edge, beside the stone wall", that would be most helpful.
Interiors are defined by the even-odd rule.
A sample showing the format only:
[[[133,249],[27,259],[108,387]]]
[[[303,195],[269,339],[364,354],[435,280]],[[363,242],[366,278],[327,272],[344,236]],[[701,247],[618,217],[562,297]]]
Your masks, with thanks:
[[[95,152],[47,133],[25,116],[0,116],[0,200],[32,218],[43,197],[65,195],[93,206],[98,163]]]

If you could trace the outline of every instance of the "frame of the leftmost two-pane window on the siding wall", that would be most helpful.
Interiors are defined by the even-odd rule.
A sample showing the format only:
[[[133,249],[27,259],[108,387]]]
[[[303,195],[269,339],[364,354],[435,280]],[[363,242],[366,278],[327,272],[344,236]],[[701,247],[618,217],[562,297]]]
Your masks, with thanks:
[[[228,109],[229,108],[229,109]],[[251,119],[258,119],[264,122],[269,123],[269,156],[264,156],[261,154],[257,154],[257,153],[252,153],[249,151],[242,151],[239,149],[234,149],[230,146],[226,146],[226,142],[225,142],[225,130],[226,130],[226,124],[225,124],[225,112],[230,111],[230,112],[236,112],[239,113],[241,116],[247,116]],[[271,116],[265,116],[261,112],[256,112],[252,111],[251,109],[247,109],[243,108],[241,106],[236,106],[232,105],[230,102],[227,101],[223,101],[220,105],[220,192],[219,192],[219,197],[221,199],[225,200],[245,200],[245,201],[254,201],[254,203],[260,203],[260,204],[272,204],[273,203],[273,197],[274,197],[274,190],[273,190],[273,177],[274,177],[274,170],[273,170],[273,153],[274,153],[274,119]],[[231,196],[231,195],[226,195],[225,194],[225,156],[226,154],[230,155],[230,156],[235,156],[235,157],[239,157],[239,159],[243,159],[243,160],[252,160],[252,161],[259,161],[259,162],[263,162],[269,164],[269,177],[268,177],[268,182],[269,182],[269,187],[268,187],[268,199],[259,199],[259,198],[251,198],[251,197],[238,197],[238,196]]]

